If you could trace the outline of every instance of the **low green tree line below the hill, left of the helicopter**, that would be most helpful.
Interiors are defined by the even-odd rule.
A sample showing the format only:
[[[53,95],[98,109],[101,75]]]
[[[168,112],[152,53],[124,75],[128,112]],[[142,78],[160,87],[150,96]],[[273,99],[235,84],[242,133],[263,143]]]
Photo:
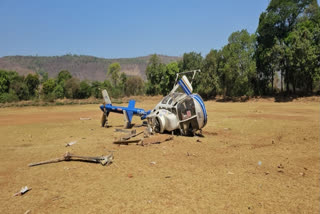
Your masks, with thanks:
[[[56,78],[48,78],[45,72],[25,77],[15,71],[0,70],[0,103],[30,99],[51,102],[63,98],[102,98],[103,89],[107,89],[114,98],[144,94],[143,79],[120,74],[120,69],[119,63],[112,63],[103,82],[80,81],[67,70],[60,71]]]

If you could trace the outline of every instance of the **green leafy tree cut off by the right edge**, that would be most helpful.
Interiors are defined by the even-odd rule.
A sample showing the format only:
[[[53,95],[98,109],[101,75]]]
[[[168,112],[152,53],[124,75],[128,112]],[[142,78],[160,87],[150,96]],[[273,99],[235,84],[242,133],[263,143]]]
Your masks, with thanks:
[[[298,18],[285,43],[293,92],[297,88],[312,92],[315,82],[320,79],[320,9],[315,1]]]

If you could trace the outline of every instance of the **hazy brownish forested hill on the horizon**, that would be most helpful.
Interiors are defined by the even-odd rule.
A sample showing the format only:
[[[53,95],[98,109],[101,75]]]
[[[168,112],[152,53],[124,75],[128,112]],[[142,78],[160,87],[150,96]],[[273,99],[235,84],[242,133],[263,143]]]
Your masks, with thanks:
[[[138,75],[146,79],[145,70],[149,56],[136,58],[105,59],[84,55],[64,56],[5,56],[0,58],[0,70],[17,71],[21,75],[28,73],[43,74],[48,72],[49,77],[56,77],[61,70],[68,70],[72,76],[80,80],[103,81],[106,78],[108,66],[119,62],[121,72],[129,76]],[[179,57],[159,55],[163,63],[179,60]]]

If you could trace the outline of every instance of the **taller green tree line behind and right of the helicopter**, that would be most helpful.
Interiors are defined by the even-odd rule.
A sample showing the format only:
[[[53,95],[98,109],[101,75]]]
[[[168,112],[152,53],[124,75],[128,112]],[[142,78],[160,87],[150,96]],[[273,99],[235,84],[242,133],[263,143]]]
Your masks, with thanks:
[[[204,98],[310,94],[320,87],[320,9],[316,0],[271,0],[256,33],[232,33],[220,50],[185,53],[165,66],[156,55],[148,64],[147,94],[170,90],[178,72],[201,69],[194,89]],[[173,84],[173,83],[172,83]],[[280,89],[275,87],[280,84]],[[170,86],[164,89],[163,86]],[[285,86],[285,87],[284,87]]]

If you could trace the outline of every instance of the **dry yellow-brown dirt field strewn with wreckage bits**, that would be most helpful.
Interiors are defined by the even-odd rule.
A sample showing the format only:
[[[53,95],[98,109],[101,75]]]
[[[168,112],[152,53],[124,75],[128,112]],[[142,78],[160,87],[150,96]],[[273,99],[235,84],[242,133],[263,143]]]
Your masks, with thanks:
[[[110,114],[112,127],[101,128],[98,105],[0,109],[0,213],[320,212],[319,102],[205,104],[204,138],[148,147],[114,145],[123,116]],[[110,166],[27,166],[109,150]],[[32,190],[13,197],[26,185]]]

